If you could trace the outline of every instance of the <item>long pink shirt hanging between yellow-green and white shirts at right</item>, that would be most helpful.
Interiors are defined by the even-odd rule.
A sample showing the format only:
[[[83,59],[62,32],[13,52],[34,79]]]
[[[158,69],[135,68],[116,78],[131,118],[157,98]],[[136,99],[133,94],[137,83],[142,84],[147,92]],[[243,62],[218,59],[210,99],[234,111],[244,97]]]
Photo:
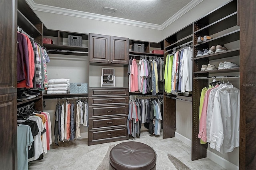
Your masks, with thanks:
[[[209,99],[209,94],[212,91],[212,89],[215,89],[216,87],[219,87],[219,85],[216,85],[212,87],[211,89],[208,89],[205,93],[204,97],[204,104],[202,108],[202,113],[201,113],[201,118],[199,121],[199,133],[198,133],[198,138],[202,139],[202,141],[206,142],[207,141],[207,135],[206,135],[206,113],[207,113],[207,107],[208,107],[208,99]]]

